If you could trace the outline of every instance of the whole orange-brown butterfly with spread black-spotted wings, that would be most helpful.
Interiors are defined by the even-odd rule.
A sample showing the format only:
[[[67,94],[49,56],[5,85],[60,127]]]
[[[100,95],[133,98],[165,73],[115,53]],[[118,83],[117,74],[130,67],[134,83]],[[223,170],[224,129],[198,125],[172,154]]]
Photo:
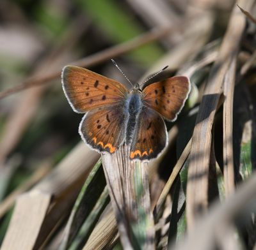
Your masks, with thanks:
[[[164,119],[175,121],[190,91],[188,77],[170,77],[131,90],[93,71],[65,66],[62,86],[70,106],[85,113],[79,125],[83,141],[95,151],[113,154],[126,144],[130,159],[149,161],[168,144]]]

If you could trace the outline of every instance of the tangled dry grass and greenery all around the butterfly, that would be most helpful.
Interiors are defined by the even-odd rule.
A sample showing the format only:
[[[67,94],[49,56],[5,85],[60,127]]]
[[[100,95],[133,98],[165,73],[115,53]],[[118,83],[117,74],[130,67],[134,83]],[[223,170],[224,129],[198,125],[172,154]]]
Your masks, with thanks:
[[[0,17],[1,249],[256,249],[256,1],[3,0]],[[125,84],[111,58],[132,82],[191,80],[150,163],[77,133],[61,69]]]

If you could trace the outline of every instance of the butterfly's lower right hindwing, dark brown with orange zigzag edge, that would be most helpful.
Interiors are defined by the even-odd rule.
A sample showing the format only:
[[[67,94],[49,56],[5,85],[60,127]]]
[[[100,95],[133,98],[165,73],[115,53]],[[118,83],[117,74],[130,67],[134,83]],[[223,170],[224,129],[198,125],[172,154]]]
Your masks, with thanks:
[[[167,145],[163,118],[151,108],[142,108],[135,131],[131,143],[131,159],[149,161],[156,158]]]

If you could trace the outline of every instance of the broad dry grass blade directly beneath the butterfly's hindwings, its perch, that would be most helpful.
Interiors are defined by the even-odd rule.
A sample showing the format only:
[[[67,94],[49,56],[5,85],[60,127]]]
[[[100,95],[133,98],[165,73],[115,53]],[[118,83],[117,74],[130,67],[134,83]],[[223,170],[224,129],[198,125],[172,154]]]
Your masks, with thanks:
[[[113,155],[102,154],[102,163],[122,246],[154,249],[147,163],[131,161],[125,145]]]

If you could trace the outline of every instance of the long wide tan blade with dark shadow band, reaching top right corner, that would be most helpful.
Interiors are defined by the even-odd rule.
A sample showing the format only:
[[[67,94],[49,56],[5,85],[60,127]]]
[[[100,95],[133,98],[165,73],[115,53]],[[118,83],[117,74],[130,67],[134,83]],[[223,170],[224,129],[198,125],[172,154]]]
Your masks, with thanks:
[[[239,1],[239,4],[246,5],[249,8],[252,6],[252,3],[253,1]],[[243,13],[237,10],[235,6],[230,17],[227,32],[221,43],[218,59],[215,61],[214,66],[212,66],[196,119],[188,170],[186,210],[189,228],[193,226],[195,217],[207,209],[212,124],[222,92],[223,79],[230,66],[232,56],[239,47],[245,24]]]

